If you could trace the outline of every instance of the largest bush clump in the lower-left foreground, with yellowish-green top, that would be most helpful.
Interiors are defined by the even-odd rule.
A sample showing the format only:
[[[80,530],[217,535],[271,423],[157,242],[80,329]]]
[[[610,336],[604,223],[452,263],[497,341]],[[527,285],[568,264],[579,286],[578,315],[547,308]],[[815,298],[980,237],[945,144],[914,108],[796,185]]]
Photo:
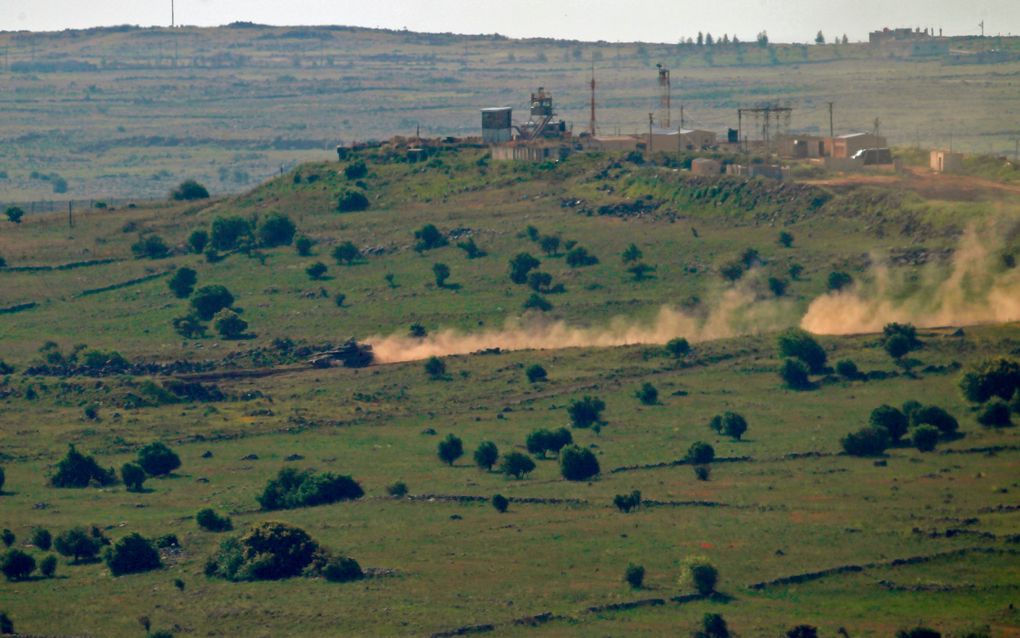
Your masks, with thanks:
[[[333,555],[304,530],[285,523],[260,523],[223,541],[205,574],[228,581],[280,580],[296,576],[348,582],[364,576],[356,560]]]

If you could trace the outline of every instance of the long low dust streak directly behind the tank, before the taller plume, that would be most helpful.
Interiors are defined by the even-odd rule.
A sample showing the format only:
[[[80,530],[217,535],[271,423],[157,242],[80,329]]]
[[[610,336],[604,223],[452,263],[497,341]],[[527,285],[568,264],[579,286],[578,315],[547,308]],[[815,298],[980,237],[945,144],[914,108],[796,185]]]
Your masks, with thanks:
[[[618,316],[603,328],[572,327],[541,316],[511,318],[501,330],[462,333],[443,330],[423,339],[393,335],[371,337],[376,360],[382,363],[412,361],[429,356],[467,354],[486,348],[502,350],[607,347],[642,343],[666,343],[676,337],[688,341],[723,339],[768,332],[788,326],[796,317],[790,302],[762,299],[757,278],[716,295],[716,301],[701,315],[664,305],[652,321]]]

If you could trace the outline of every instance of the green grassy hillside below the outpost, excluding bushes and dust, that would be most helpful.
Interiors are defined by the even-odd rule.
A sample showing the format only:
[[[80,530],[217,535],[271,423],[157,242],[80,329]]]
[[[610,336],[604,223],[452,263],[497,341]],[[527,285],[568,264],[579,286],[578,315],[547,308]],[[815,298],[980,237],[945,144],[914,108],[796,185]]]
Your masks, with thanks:
[[[688,634],[704,614],[718,612],[743,636],[780,636],[801,623],[824,636],[840,627],[852,636],[891,636],[918,624],[954,636],[981,627],[991,636],[1017,634],[1020,558],[1011,539],[1020,527],[1020,441],[1016,428],[979,426],[958,383],[970,364],[1016,357],[1018,326],[922,330],[924,347],[912,354],[920,363],[911,374],[876,335],[820,337],[830,364],[850,358],[887,377],[815,377],[817,387],[805,392],[782,387],[775,333],[798,324],[825,292],[830,271],[871,278],[869,254],[915,255],[909,264],[894,260],[907,280],[945,274],[963,229],[997,222],[1007,229],[1000,250],[1014,254],[1020,198],[994,189],[957,201],[895,186],[707,184],[668,165],[615,156],[520,165],[488,163],[484,154],[448,148],[429,162],[406,164],[369,152],[363,183],[370,208],[357,213],[336,212],[338,192],[350,186],[342,165],[313,162],[232,198],[90,211],[72,229],[60,214],[2,223],[0,255],[9,267],[0,269],[0,307],[38,305],[0,314],[0,359],[15,366],[0,384],[0,527],[17,535],[18,546],[34,527],[56,533],[73,525],[97,525],[113,539],[173,533],[182,544],[164,555],[163,569],[146,574],[113,578],[101,562],[61,559],[58,578],[0,583],[0,610],[18,631],[137,636],[144,616],[153,629],[175,635],[420,636],[492,625],[498,636],[661,636]],[[582,205],[561,203],[578,199]],[[658,204],[634,216],[598,212],[635,199]],[[805,203],[816,199],[824,203]],[[189,233],[217,215],[275,211],[316,241],[312,256],[285,246],[210,263],[183,248]],[[470,236],[488,255],[467,259],[456,240],[415,251],[413,232],[428,223]],[[600,262],[575,268],[562,254],[543,254],[527,226],[576,240]],[[781,230],[794,235],[792,247],[777,243]],[[131,245],[142,232],[165,238],[172,256],[133,258]],[[345,240],[366,253],[363,262],[338,265],[329,257]],[[630,243],[656,266],[651,279],[633,281],[625,272],[619,255]],[[742,283],[727,284],[719,267],[748,248],[761,264]],[[926,256],[916,258],[918,250]],[[521,251],[539,256],[542,269],[566,288],[546,295],[553,308],[539,320],[522,310],[530,290],[507,278],[507,261]],[[19,269],[92,259],[119,260]],[[324,281],[305,275],[315,260],[328,264]],[[450,265],[457,287],[436,286],[435,262]],[[793,263],[804,266],[797,280],[788,280]],[[170,321],[187,302],[171,295],[165,278],[82,294],[185,265],[198,272],[199,286],[222,284],[235,293],[253,339],[174,334]],[[785,295],[768,292],[767,276],[788,280]],[[747,291],[744,305],[726,314],[725,331],[704,330],[698,318],[716,316],[737,289]],[[343,307],[336,293],[347,295]],[[314,370],[274,345],[285,338],[299,346],[336,344],[350,336],[377,343],[415,322],[432,334],[477,334],[522,314],[525,325],[561,321],[598,331],[614,317],[650,322],[663,305],[686,308],[692,326],[700,326],[685,335],[702,339],[681,361],[653,343],[530,349],[449,356],[447,378],[429,380],[420,360]],[[719,335],[728,336],[708,338]],[[133,362],[209,361],[217,377],[207,383],[226,399],[145,400],[153,396],[147,381],[166,381],[159,375],[23,374],[41,362],[46,341],[65,353],[75,344],[116,350]],[[548,381],[528,383],[524,370],[532,363],[547,369]],[[239,375],[270,366],[276,374]],[[644,383],[658,388],[658,404],[634,397]],[[566,406],[582,395],[607,404],[601,432],[573,430],[575,441],[597,454],[597,480],[564,481],[552,458],[538,459],[519,481],[471,463],[483,440],[503,453],[523,450],[532,430],[567,425]],[[894,448],[884,463],[839,454],[840,437],[866,425],[872,408],[908,399],[947,408],[962,436],[930,453]],[[98,421],[85,416],[88,405],[98,406]],[[723,410],[748,419],[743,440],[709,429]],[[448,433],[466,449],[452,467],[436,456]],[[169,444],[183,464],[169,478],[150,480],[146,492],[47,484],[69,443],[103,467],[119,468],[153,440]],[[709,481],[670,463],[698,440],[735,460],[713,463]],[[255,496],[285,467],[350,474],[366,496],[260,511]],[[387,495],[395,481],[406,482],[410,497]],[[614,495],[634,489],[653,502],[618,511]],[[511,497],[506,513],[460,498],[495,493]],[[197,527],[193,517],[206,506],[228,512],[239,532],[260,521],[299,526],[384,572],[348,584],[207,578],[206,559],[231,534]],[[681,561],[694,554],[718,567],[720,595],[674,601],[691,593],[678,579]],[[930,560],[894,562],[915,556]],[[630,562],[647,570],[642,590],[623,582]],[[860,569],[751,587],[842,566]],[[646,599],[661,604],[602,608]],[[551,618],[536,626],[516,623],[545,612]]]

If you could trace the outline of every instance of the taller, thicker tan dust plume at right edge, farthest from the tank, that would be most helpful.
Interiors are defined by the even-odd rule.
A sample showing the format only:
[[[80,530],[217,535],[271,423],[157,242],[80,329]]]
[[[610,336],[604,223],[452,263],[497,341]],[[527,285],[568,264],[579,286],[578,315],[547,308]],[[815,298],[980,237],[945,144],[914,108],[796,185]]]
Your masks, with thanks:
[[[877,332],[890,322],[933,327],[1020,321],[1020,268],[1003,261],[1003,238],[1013,234],[1004,231],[969,227],[948,273],[927,267],[917,282],[875,266],[870,281],[812,301],[801,328],[847,335]]]

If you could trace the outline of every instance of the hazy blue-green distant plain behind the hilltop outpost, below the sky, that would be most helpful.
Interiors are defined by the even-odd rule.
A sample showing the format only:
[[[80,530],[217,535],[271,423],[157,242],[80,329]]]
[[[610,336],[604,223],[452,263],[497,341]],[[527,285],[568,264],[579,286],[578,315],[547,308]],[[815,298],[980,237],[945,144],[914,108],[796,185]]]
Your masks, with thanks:
[[[1020,38],[951,46],[1015,52]],[[340,142],[418,126],[426,137],[478,135],[479,108],[511,105],[523,116],[540,86],[579,133],[593,61],[604,134],[646,130],[658,110],[656,63],[672,69],[685,126],[720,135],[736,128],[736,108],[766,102],[794,107],[792,130],[827,135],[829,101],[837,134],[870,131],[877,117],[898,146],[1005,155],[1020,134],[1010,124],[1020,62],[954,64],[857,43],[708,50],[351,28],[113,28],[0,33],[0,202],[40,208],[163,197],[186,178],[237,193],[282,166],[328,159]],[[54,174],[66,192],[54,192]]]

